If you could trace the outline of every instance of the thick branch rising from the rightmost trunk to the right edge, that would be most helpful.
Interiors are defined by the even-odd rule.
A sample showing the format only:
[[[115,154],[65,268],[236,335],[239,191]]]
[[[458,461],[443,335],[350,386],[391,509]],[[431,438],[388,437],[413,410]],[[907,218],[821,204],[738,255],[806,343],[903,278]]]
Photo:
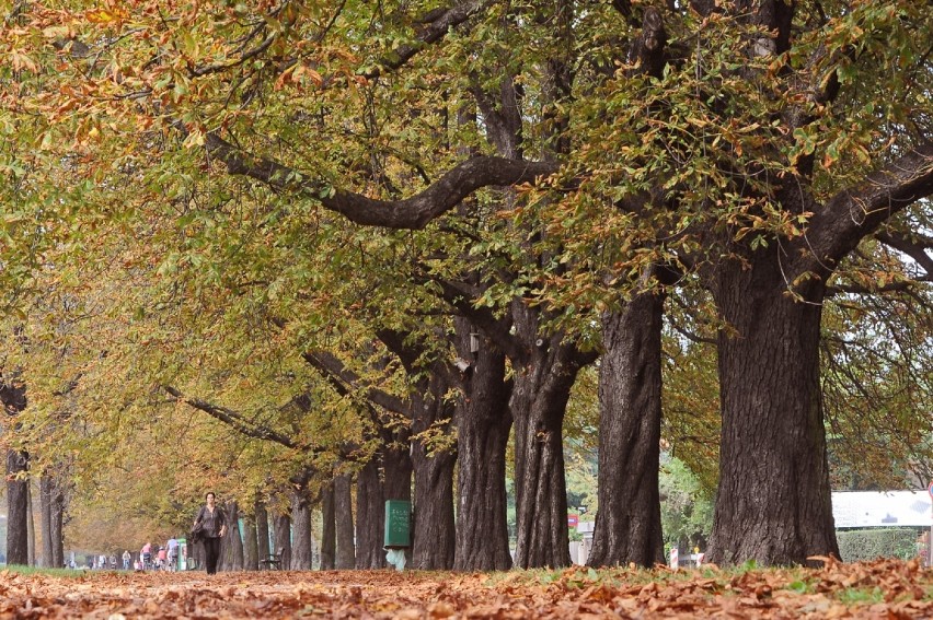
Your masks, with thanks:
[[[817,209],[807,241],[818,260],[836,265],[883,222],[931,194],[933,144],[924,144]]]

